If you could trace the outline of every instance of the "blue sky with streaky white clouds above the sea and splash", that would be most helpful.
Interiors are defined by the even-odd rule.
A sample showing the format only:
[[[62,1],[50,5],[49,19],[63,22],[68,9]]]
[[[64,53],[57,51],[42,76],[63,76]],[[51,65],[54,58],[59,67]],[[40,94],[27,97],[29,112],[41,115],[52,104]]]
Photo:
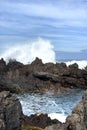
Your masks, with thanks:
[[[0,55],[38,38],[56,51],[86,51],[87,0],[0,0]]]

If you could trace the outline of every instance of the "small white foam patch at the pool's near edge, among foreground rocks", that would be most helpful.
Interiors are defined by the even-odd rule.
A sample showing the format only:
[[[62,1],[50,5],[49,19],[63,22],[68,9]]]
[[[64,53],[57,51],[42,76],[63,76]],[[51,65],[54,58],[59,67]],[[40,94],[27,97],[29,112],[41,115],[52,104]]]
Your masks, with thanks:
[[[62,123],[64,123],[66,121],[66,117],[67,117],[64,113],[62,113],[62,114],[60,114],[60,113],[51,113],[51,114],[48,114],[48,116],[51,119],[57,119]]]

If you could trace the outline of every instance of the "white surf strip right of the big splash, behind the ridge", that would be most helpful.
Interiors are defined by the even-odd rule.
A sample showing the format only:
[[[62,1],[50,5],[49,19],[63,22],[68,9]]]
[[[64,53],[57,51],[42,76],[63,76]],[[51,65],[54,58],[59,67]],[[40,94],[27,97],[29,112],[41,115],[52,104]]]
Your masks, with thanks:
[[[65,62],[65,63],[66,63],[67,66],[74,64],[74,63],[77,63],[80,69],[84,69],[87,66],[86,60],[82,60],[82,61],[73,60],[73,61],[68,61],[68,62]]]

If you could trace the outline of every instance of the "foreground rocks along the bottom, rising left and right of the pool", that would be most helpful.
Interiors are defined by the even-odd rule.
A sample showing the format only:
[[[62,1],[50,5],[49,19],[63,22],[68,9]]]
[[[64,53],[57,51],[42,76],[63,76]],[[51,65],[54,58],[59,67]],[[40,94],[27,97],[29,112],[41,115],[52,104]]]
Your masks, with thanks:
[[[10,92],[0,92],[0,130],[87,130],[87,91],[65,123],[51,120],[47,114],[23,115],[18,99]]]

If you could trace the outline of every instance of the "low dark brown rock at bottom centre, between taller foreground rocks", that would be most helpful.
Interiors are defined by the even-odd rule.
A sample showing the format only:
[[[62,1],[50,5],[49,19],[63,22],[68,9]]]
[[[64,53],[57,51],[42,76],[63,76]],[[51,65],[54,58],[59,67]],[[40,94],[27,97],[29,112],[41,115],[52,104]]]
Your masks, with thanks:
[[[40,128],[45,128],[46,126],[53,125],[53,124],[62,124],[58,120],[54,119],[51,120],[50,117],[48,117],[47,114],[38,113],[31,116],[25,116],[23,115],[23,126],[36,126]]]

